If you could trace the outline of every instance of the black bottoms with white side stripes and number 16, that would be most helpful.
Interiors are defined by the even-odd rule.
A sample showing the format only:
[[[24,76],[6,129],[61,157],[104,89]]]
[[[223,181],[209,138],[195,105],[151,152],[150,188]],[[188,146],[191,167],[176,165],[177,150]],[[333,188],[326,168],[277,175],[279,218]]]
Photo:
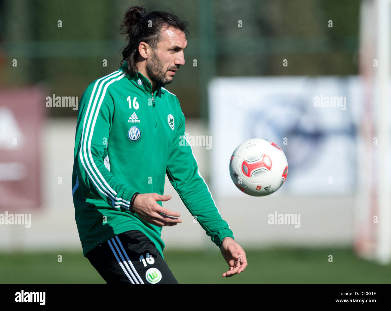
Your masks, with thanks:
[[[116,235],[86,257],[109,284],[178,284],[155,244],[138,230]]]

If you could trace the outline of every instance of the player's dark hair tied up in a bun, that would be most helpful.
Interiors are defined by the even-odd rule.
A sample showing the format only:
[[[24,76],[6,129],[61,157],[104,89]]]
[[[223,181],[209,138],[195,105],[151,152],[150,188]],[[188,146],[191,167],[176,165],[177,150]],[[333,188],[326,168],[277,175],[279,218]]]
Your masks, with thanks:
[[[152,27],[151,27],[152,22]],[[149,27],[148,27],[149,26]],[[152,11],[147,13],[143,7],[129,7],[121,23],[121,33],[127,34],[129,40],[127,46],[122,50],[121,67],[127,61],[127,70],[130,77],[138,72],[136,59],[139,55],[138,45],[144,41],[148,43],[152,50],[156,50],[160,41],[160,31],[162,27],[174,27],[188,35],[188,22],[182,21],[178,16],[163,11]]]

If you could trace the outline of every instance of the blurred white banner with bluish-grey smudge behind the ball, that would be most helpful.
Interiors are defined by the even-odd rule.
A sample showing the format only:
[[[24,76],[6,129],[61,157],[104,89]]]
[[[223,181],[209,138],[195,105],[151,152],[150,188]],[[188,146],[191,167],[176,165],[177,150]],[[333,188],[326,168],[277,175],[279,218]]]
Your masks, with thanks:
[[[359,77],[232,77],[208,88],[211,185],[217,195],[243,196],[229,174],[235,148],[266,138],[287,156],[280,194],[352,194],[362,106]]]

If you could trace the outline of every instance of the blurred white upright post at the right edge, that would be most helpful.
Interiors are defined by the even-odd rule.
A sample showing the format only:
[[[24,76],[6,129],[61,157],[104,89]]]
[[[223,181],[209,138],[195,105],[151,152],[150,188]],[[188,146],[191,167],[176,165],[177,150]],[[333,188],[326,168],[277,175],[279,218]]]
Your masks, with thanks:
[[[377,155],[378,223],[376,259],[391,261],[391,0],[377,0],[377,60],[375,68],[375,122]]]

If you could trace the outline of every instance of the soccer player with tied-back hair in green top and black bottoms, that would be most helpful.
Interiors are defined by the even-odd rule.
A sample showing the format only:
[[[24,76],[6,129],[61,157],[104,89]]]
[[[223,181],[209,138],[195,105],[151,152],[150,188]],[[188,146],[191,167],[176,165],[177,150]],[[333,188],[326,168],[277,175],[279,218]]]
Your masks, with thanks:
[[[130,7],[119,70],[92,82],[79,103],[72,194],[83,255],[108,283],[178,284],[163,259],[165,174],[221,250],[231,277],[246,254],[221,218],[185,135],[179,100],[164,88],[185,64],[187,22]]]

